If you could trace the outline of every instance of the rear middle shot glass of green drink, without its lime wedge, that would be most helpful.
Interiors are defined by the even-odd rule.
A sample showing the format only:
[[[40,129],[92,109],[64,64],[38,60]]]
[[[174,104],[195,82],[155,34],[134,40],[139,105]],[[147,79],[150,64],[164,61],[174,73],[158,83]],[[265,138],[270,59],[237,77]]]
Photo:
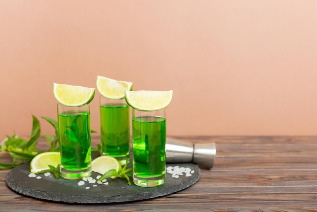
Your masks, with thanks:
[[[125,165],[130,153],[130,107],[126,99],[100,96],[101,155]]]

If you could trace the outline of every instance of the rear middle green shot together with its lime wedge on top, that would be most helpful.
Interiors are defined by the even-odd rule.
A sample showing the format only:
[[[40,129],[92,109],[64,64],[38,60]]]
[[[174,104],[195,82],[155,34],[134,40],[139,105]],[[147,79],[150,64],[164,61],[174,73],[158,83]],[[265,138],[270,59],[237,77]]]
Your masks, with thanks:
[[[130,107],[125,92],[132,90],[133,83],[97,76],[96,86],[101,94],[100,154],[125,165],[130,158]]]

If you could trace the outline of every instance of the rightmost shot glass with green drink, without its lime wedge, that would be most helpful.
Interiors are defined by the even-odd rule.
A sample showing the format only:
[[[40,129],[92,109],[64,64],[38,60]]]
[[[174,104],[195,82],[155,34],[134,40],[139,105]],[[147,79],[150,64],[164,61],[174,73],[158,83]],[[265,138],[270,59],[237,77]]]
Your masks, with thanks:
[[[133,182],[141,187],[165,183],[166,116],[159,111],[132,110]]]

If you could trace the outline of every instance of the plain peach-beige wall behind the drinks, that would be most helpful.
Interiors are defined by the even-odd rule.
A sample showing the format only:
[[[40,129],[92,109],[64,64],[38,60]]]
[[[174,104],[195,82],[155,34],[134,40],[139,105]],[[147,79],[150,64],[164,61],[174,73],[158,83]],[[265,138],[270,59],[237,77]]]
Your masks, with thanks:
[[[0,0],[0,139],[43,133],[53,82],[174,90],[169,135],[317,134],[317,1]],[[99,131],[98,93],[91,104]]]

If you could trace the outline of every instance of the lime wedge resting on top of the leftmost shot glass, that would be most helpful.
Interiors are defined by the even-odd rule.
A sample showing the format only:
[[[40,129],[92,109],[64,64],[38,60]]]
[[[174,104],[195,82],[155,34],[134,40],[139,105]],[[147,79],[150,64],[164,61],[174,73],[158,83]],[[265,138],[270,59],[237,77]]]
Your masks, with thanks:
[[[59,103],[77,107],[93,100],[95,88],[53,83],[53,93]]]

